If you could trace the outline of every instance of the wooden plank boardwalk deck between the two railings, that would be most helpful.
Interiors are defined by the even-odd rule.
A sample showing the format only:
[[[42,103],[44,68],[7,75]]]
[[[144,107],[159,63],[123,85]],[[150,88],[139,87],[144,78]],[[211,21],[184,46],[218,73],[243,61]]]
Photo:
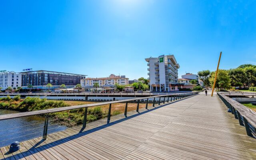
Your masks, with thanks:
[[[151,107],[152,108],[152,107]],[[150,108],[149,108],[150,109]],[[34,138],[0,159],[252,160],[256,139],[246,135],[224,103],[199,94],[140,114],[130,112]],[[2,154],[1,154],[2,153]]]

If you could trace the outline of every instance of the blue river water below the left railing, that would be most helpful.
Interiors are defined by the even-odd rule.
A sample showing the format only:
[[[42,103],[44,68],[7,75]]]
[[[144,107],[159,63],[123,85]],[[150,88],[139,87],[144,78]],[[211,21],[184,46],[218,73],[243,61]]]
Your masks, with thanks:
[[[0,115],[17,113],[12,110],[1,110]],[[24,141],[42,137],[44,117],[28,116],[0,121],[0,147],[10,145],[14,141]],[[48,123],[48,134],[66,129],[66,126]]]

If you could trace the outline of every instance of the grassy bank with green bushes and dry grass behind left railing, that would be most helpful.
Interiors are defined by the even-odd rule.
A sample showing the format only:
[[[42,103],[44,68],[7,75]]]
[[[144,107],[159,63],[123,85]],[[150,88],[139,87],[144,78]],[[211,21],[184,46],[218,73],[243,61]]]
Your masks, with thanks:
[[[29,112],[34,110],[44,110],[49,108],[60,108],[66,106],[76,106],[82,104],[92,104],[95,102],[85,101],[62,101],[62,100],[46,100],[38,97],[27,97],[20,99],[19,96],[15,96],[13,99],[10,96],[6,98],[0,98],[0,109],[16,110],[19,112]],[[131,103],[128,105],[128,111],[136,110],[137,104]],[[121,114],[124,112],[125,103],[112,104],[111,114]],[[140,104],[140,108],[145,107],[145,104]],[[102,105],[88,108],[87,122],[92,122],[102,118],[106,118],[108,115],[109,105]],[[68,110],[63,112],[56,112],[49,114],[50,119],[54,123],[58,123],[66,126],[75,126],[82,124],[84,119],[84,108],[76,110]]]

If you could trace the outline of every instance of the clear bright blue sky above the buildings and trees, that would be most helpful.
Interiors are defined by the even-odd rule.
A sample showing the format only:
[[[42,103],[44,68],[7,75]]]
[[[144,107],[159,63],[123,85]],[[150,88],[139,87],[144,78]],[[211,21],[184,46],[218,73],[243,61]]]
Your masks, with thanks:
[[[144,58],[174,54],[186,72],[256,64],[256,1],[0,2],[0,70],[147,76]]]

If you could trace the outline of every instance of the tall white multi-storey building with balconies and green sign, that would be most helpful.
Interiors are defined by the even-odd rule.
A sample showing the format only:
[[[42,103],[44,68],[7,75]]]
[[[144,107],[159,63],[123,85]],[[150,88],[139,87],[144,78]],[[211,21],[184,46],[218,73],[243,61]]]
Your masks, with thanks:
[[[179,90],[178,68],[174,55],[162,55],[157,58],[146,58],[148,62],[148,75],[150,79],[150,91],[169,92]]]

